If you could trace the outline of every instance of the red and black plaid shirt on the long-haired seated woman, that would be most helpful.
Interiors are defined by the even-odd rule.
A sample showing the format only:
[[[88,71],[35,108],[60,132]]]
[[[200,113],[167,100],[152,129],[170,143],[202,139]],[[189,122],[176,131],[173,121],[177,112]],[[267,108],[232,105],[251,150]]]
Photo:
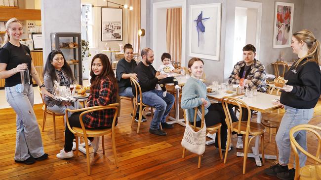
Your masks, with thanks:
[[[108,78],[102,78],[99,87],[94,88],[88,97],[87,107],[106,106],[116,103],[117,90],[113,82]],[[86,115],[83,123],[87,128],[111,127],[115,115],[114,109],[90,112]],[[117,124],[117,119],[116,123]]]

